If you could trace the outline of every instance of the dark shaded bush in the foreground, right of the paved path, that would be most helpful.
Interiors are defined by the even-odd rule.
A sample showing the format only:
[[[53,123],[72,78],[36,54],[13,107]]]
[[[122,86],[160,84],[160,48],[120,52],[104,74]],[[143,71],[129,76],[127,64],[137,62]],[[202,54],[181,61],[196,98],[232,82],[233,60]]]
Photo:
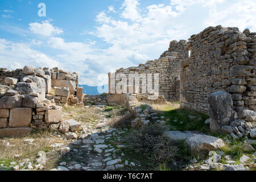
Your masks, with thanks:
[[[129,150],[155,163],[173,161],[178,150],[164,135],[164,127],[158,124],[131,131],[125,138],[125,143]]]

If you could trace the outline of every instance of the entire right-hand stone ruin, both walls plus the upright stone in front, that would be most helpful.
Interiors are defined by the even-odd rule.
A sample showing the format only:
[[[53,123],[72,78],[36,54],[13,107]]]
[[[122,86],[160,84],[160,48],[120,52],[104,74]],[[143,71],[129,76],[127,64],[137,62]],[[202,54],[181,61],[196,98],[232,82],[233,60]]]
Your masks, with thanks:
[[[127,78],[135,72],[159,73],[158,99],[149,100],[148,92],[142,94],[145,85],[141,79],[137,92],[129,93],[129,86],[134,84],[127,81],[127,92],[110,93],[107,100],[132,108],[138,101],[180,99],[181,109],[209,114],[212,131],[233,138],[255,138],[255,59],[256,33],[248,29],[240,32],[236,27],[208,27],[192,35],[189,42],[172,41],[158,60],[109,73],[109,92],[122,82],[115,77],[118,73]]]

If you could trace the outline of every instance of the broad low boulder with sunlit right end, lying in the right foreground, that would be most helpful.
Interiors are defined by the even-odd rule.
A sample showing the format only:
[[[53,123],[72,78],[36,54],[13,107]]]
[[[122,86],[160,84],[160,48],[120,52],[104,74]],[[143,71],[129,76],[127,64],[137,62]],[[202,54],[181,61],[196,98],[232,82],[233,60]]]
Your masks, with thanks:
[[[195,134],[185,140],[192,155],[206,155],[209,151],[225,147],[222,139],[209,135]]]

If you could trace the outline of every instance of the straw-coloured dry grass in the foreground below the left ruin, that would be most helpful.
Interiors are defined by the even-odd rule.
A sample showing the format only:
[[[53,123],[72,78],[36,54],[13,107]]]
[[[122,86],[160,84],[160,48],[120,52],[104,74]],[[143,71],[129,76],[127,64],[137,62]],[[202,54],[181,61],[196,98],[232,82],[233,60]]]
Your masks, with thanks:
[[[34,139],[34,142],[24,142],[26,139]],[[10,145],[6,146],[6,142]],[[34,131],[26,137],[5,139],[5,142],[0,142],[0,160],[15,161],[19,159],[29,158],[35,159],[39,151],[51,150],[51,144],[64,143],[64,140],[55,137],[48,130]],[[15,155],[19,154],[19,158]]]

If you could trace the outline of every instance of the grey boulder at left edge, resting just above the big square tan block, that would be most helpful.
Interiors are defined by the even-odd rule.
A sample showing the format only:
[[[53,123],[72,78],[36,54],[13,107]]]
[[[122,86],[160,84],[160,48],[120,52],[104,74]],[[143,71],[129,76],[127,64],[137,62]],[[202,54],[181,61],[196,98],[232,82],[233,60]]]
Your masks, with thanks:
[[[3,96],[0,98],[0,108],[11,109],[15,107],[22,107],[23,95]]]

